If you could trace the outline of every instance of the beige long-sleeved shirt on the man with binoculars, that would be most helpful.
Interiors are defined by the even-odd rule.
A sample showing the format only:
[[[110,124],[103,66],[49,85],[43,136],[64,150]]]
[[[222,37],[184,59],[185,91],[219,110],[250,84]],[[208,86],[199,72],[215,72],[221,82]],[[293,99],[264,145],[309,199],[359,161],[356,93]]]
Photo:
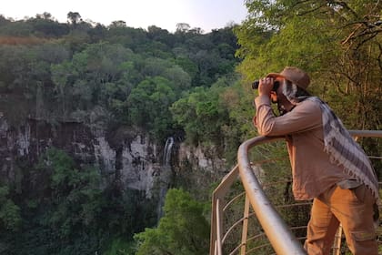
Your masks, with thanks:
[[[306,100],[275,117],[266,96],[256,97],[256,127],[263,136],[286,136],[295,199],[314,199],[340,181],[350,179],[330,163],[324,151],[322,113],[317,102]]]

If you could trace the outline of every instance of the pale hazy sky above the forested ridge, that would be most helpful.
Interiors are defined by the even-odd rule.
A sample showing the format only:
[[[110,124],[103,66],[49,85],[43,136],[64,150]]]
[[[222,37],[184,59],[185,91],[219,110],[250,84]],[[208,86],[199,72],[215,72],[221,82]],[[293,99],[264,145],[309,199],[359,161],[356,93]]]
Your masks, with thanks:
[[[8,0],[0,15],[14,20],[49,13],[61,23],[69,12],[77,12],[84,21],[109,26],[125,21],[126,26],[144,28],[158,26],[169,32],[176,24],[186,23],[208,33],[230,23],[246,19],[245,0]]]

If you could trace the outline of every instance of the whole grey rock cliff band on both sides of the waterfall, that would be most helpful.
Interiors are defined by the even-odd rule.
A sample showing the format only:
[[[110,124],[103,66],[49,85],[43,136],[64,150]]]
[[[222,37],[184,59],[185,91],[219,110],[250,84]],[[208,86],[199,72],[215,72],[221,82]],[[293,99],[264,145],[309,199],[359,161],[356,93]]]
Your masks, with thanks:
[[[146,191],[150,198],[159,192],[156,182],[169,184],[172,179],[168,162],[163,162],[165,144],[154,143],[134,128],[95,130],[75,121],[52,125],[29,118],[15,128],[0,112],[0,178],[13,182],[20,160],[33,166],[47,148],[55,147],[65,150],[79,165],[99,168],[106,181],[118,179],[123,188]],[[176,165],[177,171],[224,171],[224,161],[207,157],[201,148],[178,144],[173,149],[166,153],[174,156],[171,165]]]

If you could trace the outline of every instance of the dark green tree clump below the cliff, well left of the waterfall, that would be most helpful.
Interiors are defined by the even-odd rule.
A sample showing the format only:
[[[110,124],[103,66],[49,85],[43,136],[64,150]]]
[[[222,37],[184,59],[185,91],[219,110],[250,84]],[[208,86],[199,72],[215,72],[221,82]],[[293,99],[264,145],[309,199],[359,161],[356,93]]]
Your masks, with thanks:
[[[76,169],[73,158],[55,148],[47,150],[40,168],[51,172],[52,211],[45,224],[56,229],[62,239],[74,234],[75,226],[95,226],[106,203],[96,169]]]

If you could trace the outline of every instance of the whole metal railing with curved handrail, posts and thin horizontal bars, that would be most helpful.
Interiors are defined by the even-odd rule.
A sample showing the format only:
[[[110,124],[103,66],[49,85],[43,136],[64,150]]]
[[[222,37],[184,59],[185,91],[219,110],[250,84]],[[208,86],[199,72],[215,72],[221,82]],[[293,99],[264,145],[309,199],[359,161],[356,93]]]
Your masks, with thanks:
[[[356,139],[382,138],[382,131],[350,130],[349,132]],[[255,250],[265,248],[268,249],[267,252],[270,249],[272,250],[270,253],[276,254],[307,254],[302,246],[305,236],[297,238],[294,234],[294,231],[301,229],[306,231],[307,226],[291,228],[286,224],[286,220],[280,216],[277,209],[289,206],[305,206],[308,209],[302,211],[308,214],[311,201],[278,207],[274,205],[266,195],[267,189],[270,188],[266,188],[265,184],[260,183],[256,177],[256,175],[259,175],[261,168],[258,165],[251,165],[248,157],[248,152],[251,148],[275,143],[283,139],[284,137],[251,138],[238,148],[238,164],[222,179],[213,192],[210,255],[253,254],[252,252]],[[287,181],[290,182],[290,180],[284,182],[286,183]],[[236,183],[239,183],[240,188],[244,190],[238,194],[232,194],[233,187],[237,190]],[[270,187],[271,185],[268,186]],[[239,206],[237,207],[237,205]],[[241,217],[230,220],[229,217],[231,215],[237,216],[237,211],[241,211]],[[255,220],[256,223],[252,223],[252,221],[249,221],[250,219]],[[249,233],[251,229],[258,231],[256,234]],[[339,252],[341,231],[338,231],[338,234],[334,249],[337,249]],[[233,239],[233,236],[239,239],[240,235],[240,240],[229,241]],[[256,241],[259,239],[266,239],[266,242]],[[224,249],[227,246],[229,247]],[[265,251],[259,252],[263,253],[257,254],[270,254],[264,253]]]

